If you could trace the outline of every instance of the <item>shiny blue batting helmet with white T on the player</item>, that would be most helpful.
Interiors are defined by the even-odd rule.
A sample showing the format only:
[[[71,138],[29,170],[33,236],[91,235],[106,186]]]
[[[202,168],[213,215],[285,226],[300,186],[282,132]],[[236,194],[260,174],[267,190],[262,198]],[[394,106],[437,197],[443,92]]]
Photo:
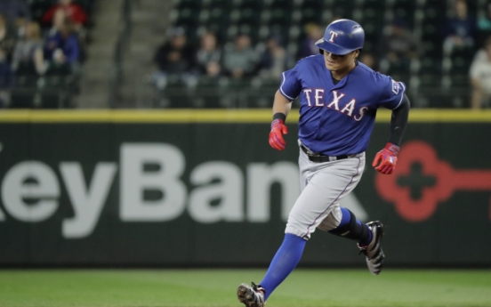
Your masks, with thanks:
[[[353,20],[335,20],[331,22],[324,37],[316,42],[319,49],[328,53],[344,55],[363,48],[365,31]]]

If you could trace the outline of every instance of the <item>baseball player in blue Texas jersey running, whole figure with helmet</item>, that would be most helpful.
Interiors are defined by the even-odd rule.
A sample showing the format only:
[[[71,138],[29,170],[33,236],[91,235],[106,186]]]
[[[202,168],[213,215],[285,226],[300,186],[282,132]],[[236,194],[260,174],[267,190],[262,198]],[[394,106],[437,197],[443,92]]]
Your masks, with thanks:
[[[294,271],[316,228],[358,241],[368,270],[374,275],[382,270],[382,223],[359,222],[339,203],[363,174],[365,150],[380,107],[392,110],[390,136],[372,166],[382,174],[394,171],[410,103],[403,83],[357,61],[364,40],[365,32],[357,22],[336,20],[316,43],[321,54],[298,61],[282,75],[273,103],[270,146],[286,148],[286,116],[292,101],[300,96],[302,193],[288,216],[284,241],[261,283],[241,284],[237,289],[238,300],[247,307],[262,307]]]

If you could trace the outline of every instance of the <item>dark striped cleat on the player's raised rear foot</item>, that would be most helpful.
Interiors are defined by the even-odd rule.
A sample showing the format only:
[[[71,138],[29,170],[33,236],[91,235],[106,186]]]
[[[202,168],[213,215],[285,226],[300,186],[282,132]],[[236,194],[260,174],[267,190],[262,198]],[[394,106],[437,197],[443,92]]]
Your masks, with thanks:
[[[374,274],[380,274],[382,271],[383,259],[385,259],[385,254],[382,251],[382,237],[383,237],[383,225],[382,222],[368,222],[366,223],[368,229],[372,231],[372,241],[367,246],[359,246],[360,254],[366,255],[366,266],[368,270]]]

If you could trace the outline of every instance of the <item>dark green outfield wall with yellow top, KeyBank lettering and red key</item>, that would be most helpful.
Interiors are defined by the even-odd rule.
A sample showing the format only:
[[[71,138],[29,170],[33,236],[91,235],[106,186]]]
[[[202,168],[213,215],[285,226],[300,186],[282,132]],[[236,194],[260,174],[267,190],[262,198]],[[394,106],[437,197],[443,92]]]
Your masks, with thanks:
[[[300,190],[296,111],[0,113],[0,266],[267,265]],[[395,174],[370,166],[348,206],[386,228],[390,266],[491,266],[491,112],[415,110]],[[328,184],[328,182],[326,182]],[[317,230],[301,265],[364,265]]]

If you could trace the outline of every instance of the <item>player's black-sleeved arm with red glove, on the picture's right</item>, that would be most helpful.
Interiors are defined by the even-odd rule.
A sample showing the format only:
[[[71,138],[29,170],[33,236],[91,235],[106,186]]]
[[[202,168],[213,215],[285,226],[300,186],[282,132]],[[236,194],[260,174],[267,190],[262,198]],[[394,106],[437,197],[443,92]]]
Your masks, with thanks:
[[[398,108],[392,110],[389,141],[384,149],[377,152],[372,163],[375,170],[382,174],[392,174],[396,169],[399,145],[406,130],[409,109],[411,109],[411,102],[406,94],[403,93],[402,101],[398,105]]]

